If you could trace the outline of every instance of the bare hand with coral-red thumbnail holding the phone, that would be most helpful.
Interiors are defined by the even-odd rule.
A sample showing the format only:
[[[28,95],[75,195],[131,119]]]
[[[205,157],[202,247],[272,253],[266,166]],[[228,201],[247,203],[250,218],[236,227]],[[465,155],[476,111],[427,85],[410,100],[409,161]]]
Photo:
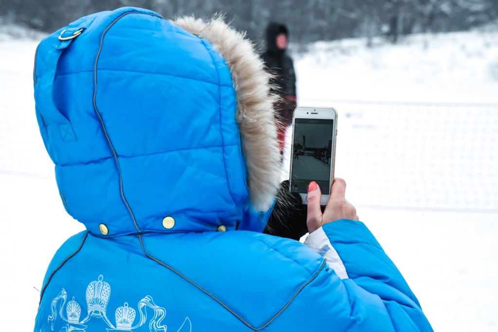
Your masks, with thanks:
[[[341,219],[360,220],[356,214],[356,208],[346,200],[346,181],[334,178],[330,198],[322,213],[320,200],[322,193],[316,182],[308,186],[308,215],[306,225],[308,231],[314,232],[326,223]]]

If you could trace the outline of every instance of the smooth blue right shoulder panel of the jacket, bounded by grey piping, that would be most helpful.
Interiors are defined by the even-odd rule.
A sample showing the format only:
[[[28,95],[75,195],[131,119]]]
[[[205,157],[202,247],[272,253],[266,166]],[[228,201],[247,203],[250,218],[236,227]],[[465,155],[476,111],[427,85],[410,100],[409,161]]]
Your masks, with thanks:
[[[170,234],[167,241],[160,238],[144,236],[147,254],[251,329],[261,329],[277,318],[326,268],[323,258],[304,244],[267,234],[229,231]],[[182,255],[168,254],[179,248]]]

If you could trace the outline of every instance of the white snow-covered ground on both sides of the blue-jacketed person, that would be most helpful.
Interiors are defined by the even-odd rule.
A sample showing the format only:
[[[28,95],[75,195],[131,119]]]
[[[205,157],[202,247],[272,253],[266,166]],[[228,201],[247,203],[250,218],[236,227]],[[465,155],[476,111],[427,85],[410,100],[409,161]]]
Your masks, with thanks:
[[[53,253],[83,227],[38,133],[37,42],[2,31],[0,321],[17,332],[32,329]],[[339,111],[336,176],[434,330],[497,331],[498,32],[321,42],[294,60],[299,104]]]

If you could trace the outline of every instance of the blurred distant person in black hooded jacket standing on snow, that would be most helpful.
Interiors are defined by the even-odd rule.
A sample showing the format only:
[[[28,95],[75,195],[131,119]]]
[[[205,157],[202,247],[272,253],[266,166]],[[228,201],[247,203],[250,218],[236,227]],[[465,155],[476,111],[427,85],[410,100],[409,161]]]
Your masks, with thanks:
[[[280,23],[269,23],[266,27],[266,51],[263,52],[262,58],[266,68],[274,75],[270,81],[274,92],[281,97],[275,105],[280,118],[278,128],[280,153],[283,153],[285,148],[285,132],[292,123],[292,113],[297,105],[294,64],[286,53],[288,43],[287,27]]]

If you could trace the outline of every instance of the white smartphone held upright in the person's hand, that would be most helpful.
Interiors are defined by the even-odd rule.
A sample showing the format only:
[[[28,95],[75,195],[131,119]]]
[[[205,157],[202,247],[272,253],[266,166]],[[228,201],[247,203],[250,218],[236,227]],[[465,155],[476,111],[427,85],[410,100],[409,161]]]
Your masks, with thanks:
[[[292,118],[290,192],[306,204],[308,185],[315,181],[326,205],[334,179],[337,111],[331,107],[298,107]]]

